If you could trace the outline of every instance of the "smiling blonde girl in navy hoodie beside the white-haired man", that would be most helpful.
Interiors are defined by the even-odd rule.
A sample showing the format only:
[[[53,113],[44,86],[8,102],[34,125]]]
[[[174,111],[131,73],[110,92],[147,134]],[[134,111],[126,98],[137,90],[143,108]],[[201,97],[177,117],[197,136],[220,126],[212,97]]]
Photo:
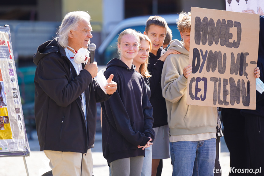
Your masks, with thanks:
[[[115,74],[117,91],[101,103],[103,155],[112,176],[140,176],[144,149],[152,144],[155,134],[147,86],[132,64],[139,50],[138,33],[126,29],[119,35],[117,47],[120,59],[107,63],[104,73],[106,77]]]

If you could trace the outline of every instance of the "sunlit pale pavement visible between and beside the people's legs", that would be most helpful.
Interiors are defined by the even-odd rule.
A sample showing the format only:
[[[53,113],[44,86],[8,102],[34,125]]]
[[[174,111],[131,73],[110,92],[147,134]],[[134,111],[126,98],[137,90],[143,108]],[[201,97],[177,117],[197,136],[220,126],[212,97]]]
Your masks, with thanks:
[[[31,155],[26,158],[28,171],[30,176],[41,176],[45,172],[51,170],[49,167],[49,159],[43,151],[39,151],[39,142],[37,134],[32,133],[33,140],[29,141]],[[92,149],[93,155],[93,173],[95,176],[109,175],[109,167],[106,159],[102,155],[102,135],[97,132],[95,135],[95,148]],[[0,175],[1,176],[27,176],[23,157],[0,157]],[[221,138],[221,155],[220,155],[221,168],[225,170],[222,176],[229,174],[229,151],[225,145],[224,137]],[[162,176],[171,176],[172,165],[171,159],[163,160]]]

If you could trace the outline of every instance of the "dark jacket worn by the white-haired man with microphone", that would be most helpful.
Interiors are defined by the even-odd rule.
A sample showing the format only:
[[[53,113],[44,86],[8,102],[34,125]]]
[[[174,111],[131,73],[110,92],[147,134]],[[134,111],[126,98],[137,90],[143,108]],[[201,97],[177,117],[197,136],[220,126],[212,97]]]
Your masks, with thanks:
[[[35,119],[40,151],[85,153],[94,147],[96,102],[106,101],[109,96],[87,70],[76,74],[57,40],[58,37],[41,44],[33,58],[37,65],[34,78]],[[90,98],[87,122],[80,96],[84,91],[86,107]]]

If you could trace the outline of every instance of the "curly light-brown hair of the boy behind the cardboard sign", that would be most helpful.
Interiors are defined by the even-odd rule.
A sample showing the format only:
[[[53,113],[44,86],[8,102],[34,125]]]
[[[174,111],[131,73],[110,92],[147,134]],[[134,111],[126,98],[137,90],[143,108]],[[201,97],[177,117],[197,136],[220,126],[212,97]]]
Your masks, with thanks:
[[[191,31],[191,12],[181,12],[177,20],[177,27],[180,32]]]

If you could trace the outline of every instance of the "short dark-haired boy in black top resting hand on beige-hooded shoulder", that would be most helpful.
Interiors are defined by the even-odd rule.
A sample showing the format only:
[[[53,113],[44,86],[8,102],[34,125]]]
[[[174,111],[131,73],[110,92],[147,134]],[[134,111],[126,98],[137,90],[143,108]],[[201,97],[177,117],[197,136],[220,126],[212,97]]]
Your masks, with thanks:
[[[152,174],[156,175],[160,159],[169,158],[169,127],[167,122],[167,109],[165,99],[162,97],[161,73],[166,57],[175,50],[163,50],[164,42],[168,30],[167,22],[160,16],[151,16],[146,22],[144,34],[152,43],[152,50],[149,57],[148,71],[151,73],[150,102],[153,106],[153,129],[156,137],[152,145]]]

